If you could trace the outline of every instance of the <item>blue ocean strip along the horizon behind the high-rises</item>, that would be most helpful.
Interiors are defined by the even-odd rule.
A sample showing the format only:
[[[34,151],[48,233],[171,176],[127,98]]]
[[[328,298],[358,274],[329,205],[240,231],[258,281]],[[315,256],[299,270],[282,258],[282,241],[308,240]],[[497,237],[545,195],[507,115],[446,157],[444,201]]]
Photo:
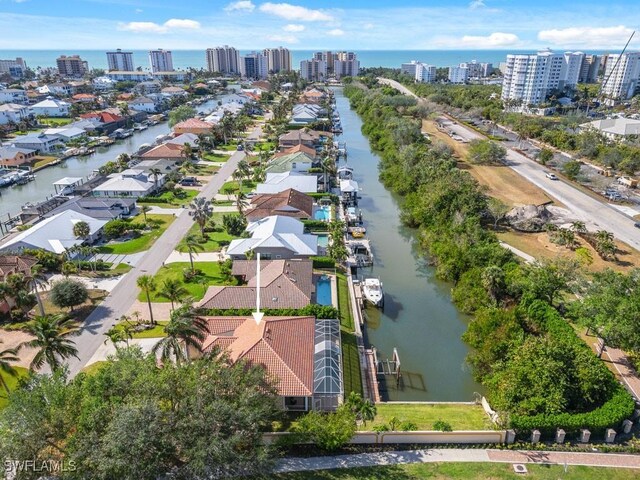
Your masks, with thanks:
[[[114,48],[115,50],[115,48]],[[135,67],[149,68],[148,50],[127,50],[133,52]],[[171,50],[173,53],[173,66],[181,70],[189,67],[205,68],[205,50]],[[240,50],[244,55],[255,50]],[[301,60],[309,59],[318,50],[291,50],[293,66],[297,69]],[[534,53],[535,50],[350,50],[358,55],[361,67],[386,67],[400,68],[400,65],[411,60],[436,65],[437,67],[449,67],[461,62],[477,60],[478,62],[492,63],[495,67],[504,62],[510,53]],[[587,53],[603,54],[602,50],[589,51]],[[21,57],[31,68],[55,67],[56,58],[60,55],[80,55],[89,63],[89,68],[107,68],[106,50],[0,50],[0,58],[13,59]]]

